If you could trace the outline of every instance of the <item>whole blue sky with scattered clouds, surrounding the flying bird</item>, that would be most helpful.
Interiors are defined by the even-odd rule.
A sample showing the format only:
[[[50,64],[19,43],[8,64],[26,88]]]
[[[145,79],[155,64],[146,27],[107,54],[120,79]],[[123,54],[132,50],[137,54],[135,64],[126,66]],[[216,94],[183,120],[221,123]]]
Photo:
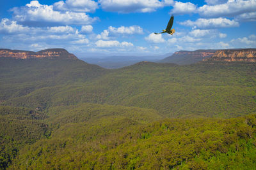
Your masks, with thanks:
[[[154,34],[171,15],[175,34]],[[255,47],[256,0],[0,1],[0,48],[163,55]]]

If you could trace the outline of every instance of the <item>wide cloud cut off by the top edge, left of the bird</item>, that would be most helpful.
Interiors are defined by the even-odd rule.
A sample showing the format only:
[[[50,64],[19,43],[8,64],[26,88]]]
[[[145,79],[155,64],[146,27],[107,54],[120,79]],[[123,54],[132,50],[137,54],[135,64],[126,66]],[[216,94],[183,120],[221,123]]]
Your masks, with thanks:
[[[120,13],[152,12],[157,8],[173,4],[173,0],[99,0],[98,2],[103,10]]]

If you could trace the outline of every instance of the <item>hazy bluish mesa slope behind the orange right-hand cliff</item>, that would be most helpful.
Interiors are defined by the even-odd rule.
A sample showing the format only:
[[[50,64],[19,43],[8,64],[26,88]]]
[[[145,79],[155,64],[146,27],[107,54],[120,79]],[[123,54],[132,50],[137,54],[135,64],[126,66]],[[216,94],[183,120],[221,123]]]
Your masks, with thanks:
[[[172,62],[175,64],[193,64],[203,59],[212,57],[217,50],[196,50],[196,51],[179,51],[172,56],[166,57],[159,62]]]

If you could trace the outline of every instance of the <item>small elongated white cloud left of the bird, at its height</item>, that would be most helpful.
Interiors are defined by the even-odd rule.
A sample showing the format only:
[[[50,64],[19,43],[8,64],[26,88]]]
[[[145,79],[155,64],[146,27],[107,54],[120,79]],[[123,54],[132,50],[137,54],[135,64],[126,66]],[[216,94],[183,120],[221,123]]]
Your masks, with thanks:
[[[132,25],[130,27],[108,27],[109,32],[113,32],[114,34],[143,34],[143,28],[138,25]]]

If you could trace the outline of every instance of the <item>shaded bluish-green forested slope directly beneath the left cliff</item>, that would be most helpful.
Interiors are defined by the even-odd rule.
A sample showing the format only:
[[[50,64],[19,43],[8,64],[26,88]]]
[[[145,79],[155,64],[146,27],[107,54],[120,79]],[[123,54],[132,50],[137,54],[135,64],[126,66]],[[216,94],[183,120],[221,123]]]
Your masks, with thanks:
[[[81,60],[0,58],[0,103],[45,87],[91,80],[108,72]]]

